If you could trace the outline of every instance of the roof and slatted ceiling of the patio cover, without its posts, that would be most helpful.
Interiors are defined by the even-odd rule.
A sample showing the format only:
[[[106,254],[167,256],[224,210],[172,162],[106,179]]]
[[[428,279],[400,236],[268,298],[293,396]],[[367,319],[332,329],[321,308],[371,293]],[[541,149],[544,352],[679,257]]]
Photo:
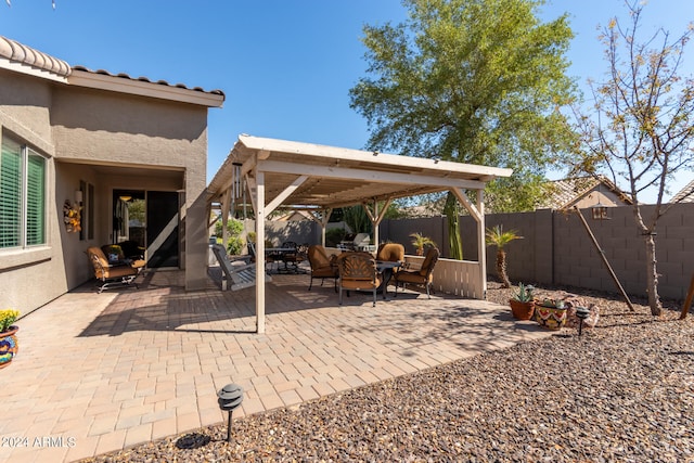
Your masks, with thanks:
[[[242,179],[255,196],[264,175],[266,215],[285,208],[327,209],[451,189],[483,190],[511,169],[416,158],[242,134],[209,183],[208,201],[237,202]],[[256,205],[254,205],[255,208]]]

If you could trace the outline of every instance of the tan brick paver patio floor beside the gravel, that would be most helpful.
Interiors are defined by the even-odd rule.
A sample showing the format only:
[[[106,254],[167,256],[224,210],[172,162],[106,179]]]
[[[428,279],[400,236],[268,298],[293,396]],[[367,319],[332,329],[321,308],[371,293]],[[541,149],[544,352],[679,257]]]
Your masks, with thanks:
[[[444,295],[338,306],[332,283],[308,292],[308,275],[273,276],[258,335],[253,288],[210,279],[187,293],[182,276],[85,285],[20,320],[20,352],[0,370],[0,461],[70,462],[223,422],[229,383],[245,391],[239,419],[549,335],[506,307]]]

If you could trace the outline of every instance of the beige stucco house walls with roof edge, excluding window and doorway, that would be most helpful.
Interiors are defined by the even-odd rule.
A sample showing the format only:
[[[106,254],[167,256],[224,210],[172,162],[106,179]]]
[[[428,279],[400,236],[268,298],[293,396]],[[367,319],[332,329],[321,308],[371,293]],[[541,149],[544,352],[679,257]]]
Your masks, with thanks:
[[[207,111],[223,93],[70,68],[0,37],[0,137],[47,158],[46,244],[0,248],[0,308],[31,311],[93,278],[90,246],[113,242],[114,190],[171,192],[189,290],[207,266]],[[69,233],[63,204],[93,185],[91,237]]]

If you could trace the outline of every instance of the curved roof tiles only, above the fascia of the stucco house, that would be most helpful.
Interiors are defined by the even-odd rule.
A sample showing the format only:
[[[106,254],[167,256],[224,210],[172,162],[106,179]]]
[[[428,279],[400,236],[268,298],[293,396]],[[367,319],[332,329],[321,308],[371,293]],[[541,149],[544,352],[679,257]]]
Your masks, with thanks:
[[[221,90],[210,90],[206,91],[201,87],[187,87],[183,83],[169,83],[166,80],[151,80],[146,77],[130,77],[128,74],[112,74],[103,69],[91,70],[85,66],[70,66],[63,60],[59,60],[53,57],[47,53],[35,50],[30,47],[22,44],[16,40],[9,39],[7,37],[0,36],[0,57],[5,57],[12,62],[16,62],[20,64],[24,64],[36,69],[47,70],[60,77],[68,77],[73,70],[82,70],[91,74],[108,76],[108,77],[120,77],[123,79],[128,79],[132,81],[147,82],[147,83],[158,83],[162,86],[179,88],[183,90],[192,90],[198,91],[203,93],[210,93],[217,95],[224,95],[224,92]]]

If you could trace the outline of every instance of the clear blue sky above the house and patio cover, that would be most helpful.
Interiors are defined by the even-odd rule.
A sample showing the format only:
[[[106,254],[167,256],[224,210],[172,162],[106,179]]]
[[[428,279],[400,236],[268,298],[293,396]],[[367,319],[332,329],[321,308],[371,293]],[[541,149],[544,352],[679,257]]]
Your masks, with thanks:
[[[362,27],[406,18],[399,0],[55,3],[55,10],[51,0],[0,3],[0,35],[70,65],[223,90],[223,107],[209,111],[208,179],[240,133],[363,147],[369,128],[348,97],[367,68]],[[622,0],[554,0],[544,7],[545,21],[570,14],[576,38],[569,74],[579,83],[606,70],[596,27],[622,15]],[[694,1],[651,0],[644,18],[646,29],[663,26],[679,35],[694,21]],[[685,74],[694,75],[693,47],[685,57]],[[692,176],[682,172],[670,193]]]

